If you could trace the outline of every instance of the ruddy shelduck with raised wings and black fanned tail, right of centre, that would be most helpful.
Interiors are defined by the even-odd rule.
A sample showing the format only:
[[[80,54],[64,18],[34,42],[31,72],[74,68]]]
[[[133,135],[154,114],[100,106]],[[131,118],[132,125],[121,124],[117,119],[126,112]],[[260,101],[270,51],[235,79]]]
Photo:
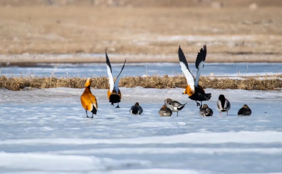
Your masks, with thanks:
[[[198,71],[196,74],[196,78],[194,78],[194,76],[192,75],[191,71],[188,68],[188,63],[180,46],[178,49],[180,67],[187,80],[186,88],[184,89],[184,92],[182,94],[188,94],[191,100],[196,101],[197,106],[200,106],[200,104],[197,101],[201,101],[201,105],[202,105],[202,101],[207,101],[210,100],[211,98],[211,93],[205,93],[203,87],[199,85],[199,77],[204,68],[206,54],[207,54],[207,48],[206,45],[204,45],[204,49],[201,48],[200,52],[198,52],[197,55],[196,68],[198,69]]]

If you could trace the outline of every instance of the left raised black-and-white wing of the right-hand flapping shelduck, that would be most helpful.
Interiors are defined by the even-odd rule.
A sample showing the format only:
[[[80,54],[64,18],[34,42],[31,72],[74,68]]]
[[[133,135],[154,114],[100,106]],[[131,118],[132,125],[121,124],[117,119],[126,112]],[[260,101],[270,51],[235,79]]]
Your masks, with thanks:
[[[192,75],[192,73],[190,72],[189,68],[188,68],[188,63],[186,61],[185,55],[182,52],[180,46],[178,49],[178,57],[179,57],[179,63],[180,63],[180,67],[181,70],[184,74],[184,76],[186,77],[187,80],[187,84],[190,86],[191,90],[194,91],[195,90],[195,79],[194,76]]]

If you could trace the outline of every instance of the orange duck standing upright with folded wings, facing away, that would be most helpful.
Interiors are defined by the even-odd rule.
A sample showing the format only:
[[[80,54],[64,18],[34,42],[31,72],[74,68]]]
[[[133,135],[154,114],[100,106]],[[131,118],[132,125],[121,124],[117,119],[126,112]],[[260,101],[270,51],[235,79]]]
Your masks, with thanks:
[[[86,111],[86,117],[85,118],[89,118],[87,115],[87,110],[92,112],[92,117],[93,118],[93,114],[96,115],[97,110],[98,110],[98,105],[97,105],[97,101],[96,101],[96,97],[91,93],[90,91],[90,85],[91,85],[91,78],[88,78],[85,82],[85,90],[83,92],[83,94],[80,97],[80,102],[82,107],[85,109]]]

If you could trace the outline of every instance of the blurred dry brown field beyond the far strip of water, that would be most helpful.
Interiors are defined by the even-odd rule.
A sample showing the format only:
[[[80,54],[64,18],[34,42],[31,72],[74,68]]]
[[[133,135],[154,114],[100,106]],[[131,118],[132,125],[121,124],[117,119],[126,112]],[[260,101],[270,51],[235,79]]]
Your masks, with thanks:
[[[193,62],[203,44],[207,62],[281,62],[281,16],[281,6],[0,6],[0,63],[99,62],[80,55],[106,47],[113,62],[177,62],[179,45]],[[38,55],[53,53],[74,55]]]

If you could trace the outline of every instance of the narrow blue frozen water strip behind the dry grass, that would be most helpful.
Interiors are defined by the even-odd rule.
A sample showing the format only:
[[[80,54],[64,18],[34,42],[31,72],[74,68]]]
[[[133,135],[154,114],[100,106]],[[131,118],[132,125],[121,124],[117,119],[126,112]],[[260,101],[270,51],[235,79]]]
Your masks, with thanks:
[[[37,64],[32,67],[10,66],[2,68],[2,75],[35,75],[50,76],[54,72],[54,66],[57,64]],[[112,64],[113,75],[117,76],[123,64]],[[197,69],[195,63],[189,63],[189,68],[195,74]],[[248,66],[248,68],[247,68]],[[201,75],[255,75],[273,74],[282,72],[282,63],[205,63]],[[68,73],[68,74],[67,74]],[[146,74],[146,63],[126,63],[122,76],[142,76]],[[182,74],[179,63],[148,63],[148,75],[177,75]],[[88,64],[59,64],[54,75],[73,76],[107,76],[106,63],[88,63]]]

